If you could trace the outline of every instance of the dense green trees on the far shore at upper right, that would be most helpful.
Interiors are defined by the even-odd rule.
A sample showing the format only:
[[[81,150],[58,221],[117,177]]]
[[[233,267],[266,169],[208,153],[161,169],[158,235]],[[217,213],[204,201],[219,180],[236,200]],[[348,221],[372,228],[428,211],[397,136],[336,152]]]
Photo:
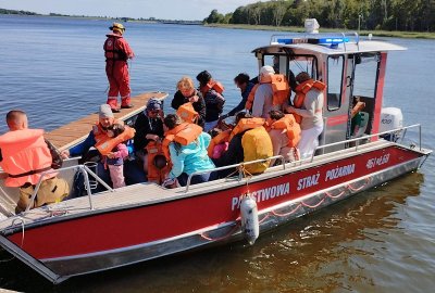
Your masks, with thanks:
[[[322,27],[435,31],[435,0],[274,0],[213,10],[204,23],[303,26],[318,18]]]

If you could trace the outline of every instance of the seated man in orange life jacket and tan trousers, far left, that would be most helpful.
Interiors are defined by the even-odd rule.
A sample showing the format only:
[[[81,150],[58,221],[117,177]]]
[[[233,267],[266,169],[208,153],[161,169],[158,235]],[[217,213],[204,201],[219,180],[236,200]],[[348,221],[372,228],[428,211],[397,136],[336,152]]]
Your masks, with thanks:
[[[20,110],[7,114],[10,129],[0,136],[0,166],[8,174],[4,186],[20,188],[17,212],[62,201],[70,193],[69,183],[58,177],[53,168],[62,166],[54,146],[44,139],[42,129],[29,129],[27,115]],[[36,186],[41,179],[34,203],[30,203]]]

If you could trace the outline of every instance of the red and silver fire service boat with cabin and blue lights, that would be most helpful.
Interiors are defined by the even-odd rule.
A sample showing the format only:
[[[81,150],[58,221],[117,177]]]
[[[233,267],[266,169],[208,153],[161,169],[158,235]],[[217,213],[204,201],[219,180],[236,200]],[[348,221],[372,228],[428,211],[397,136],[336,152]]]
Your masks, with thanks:
[[[403,127],[400,110],[382,107],[387,53],[403,49],[357,34],[273,36],[253,50],[259,67],[275,56],[279,74],[306,71],[327,84],[315,155],[252,177],[177,189],[140,183],[95,195],[89,180],[99,178],[70,160],[62,176],[83,171],[89,196],[5,213],[0,244],[59,283],[213,244],[253,243],[258,233],[411,173],[432,151],[422,148],[420,125]],[[351,123],[353,105],[360,116]],[[13,198],[16,191],[0,183],[0,196]]]

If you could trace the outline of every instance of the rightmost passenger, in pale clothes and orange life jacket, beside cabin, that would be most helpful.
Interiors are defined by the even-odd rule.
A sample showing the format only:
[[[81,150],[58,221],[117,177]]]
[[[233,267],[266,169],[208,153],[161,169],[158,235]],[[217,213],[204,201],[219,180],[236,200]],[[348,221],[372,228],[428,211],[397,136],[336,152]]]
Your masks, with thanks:
[[[301,138],[298,143],[300,158],[310,157],[319,146],[319,136],[323,131],[323,91],[325,84],[313,80],[306,72],[296,76],[298,86],[294,105],[287,107],[287,113],[294,114],[300,123]]]

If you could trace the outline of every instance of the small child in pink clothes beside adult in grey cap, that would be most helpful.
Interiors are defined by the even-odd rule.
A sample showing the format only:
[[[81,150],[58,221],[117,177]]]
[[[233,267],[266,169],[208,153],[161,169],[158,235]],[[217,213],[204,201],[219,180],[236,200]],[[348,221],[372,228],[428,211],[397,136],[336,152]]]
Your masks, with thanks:
[[[108,136],[115,138],[124,132],[125,128],[121,124],[113,124],[108,129]],[[125,187],[124,179],[124,158],[128,156],[128,150],[125,143],[117,144],[112,152],[107,154],[104,163],[109,167],[110,179],[112,179],[113,188]]]

